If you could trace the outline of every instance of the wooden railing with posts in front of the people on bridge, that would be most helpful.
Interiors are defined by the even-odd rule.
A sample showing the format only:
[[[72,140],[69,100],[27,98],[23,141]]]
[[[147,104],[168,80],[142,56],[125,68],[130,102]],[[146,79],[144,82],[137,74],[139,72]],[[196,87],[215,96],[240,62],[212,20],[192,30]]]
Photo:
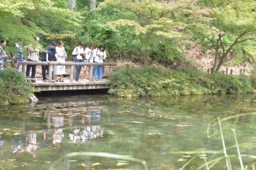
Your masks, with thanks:
[[[26,76],[27,65],[48,65],[49,66],[49,82],[52,80],[56,81],[56,66],[70,66],[70,82],[74,81],[76,77],[76,66],[88,66],[89,67],[89,80],[93,79],[93,66],[109,66],[109,73],[113,71],[113,66],[116,66],[116,63],[74,63],[72,61],[67,61],[65,63],[60,63],[56,61],[46,62],[46,61],[20,61],[18,63],[22,65],[22,73]]]

